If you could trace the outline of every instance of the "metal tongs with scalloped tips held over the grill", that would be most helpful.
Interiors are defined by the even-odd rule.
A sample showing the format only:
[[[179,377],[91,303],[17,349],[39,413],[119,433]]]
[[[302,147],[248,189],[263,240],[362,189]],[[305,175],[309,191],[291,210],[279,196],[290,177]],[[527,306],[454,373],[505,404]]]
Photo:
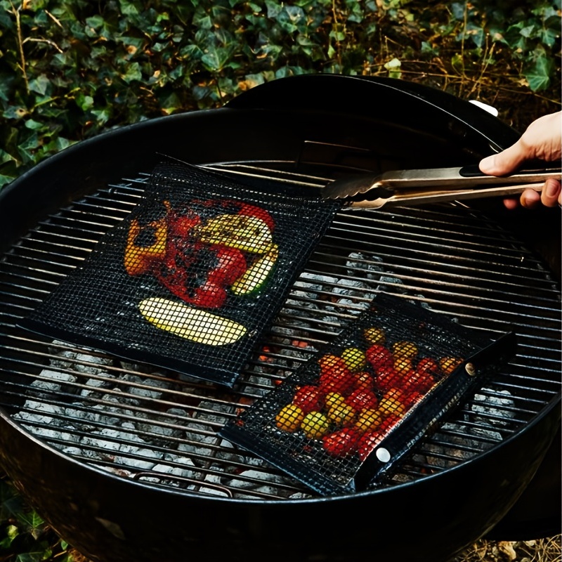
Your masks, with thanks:
[[[487,176],[477,164],[462,168],[386,171],[332,181],[322,188],[325,199],[343,199],[353,209],[379,209],[384,205],[508,197],[525,189],[541,191],[547,178],[562,178],[559,167],[524,169],[509,176]]]

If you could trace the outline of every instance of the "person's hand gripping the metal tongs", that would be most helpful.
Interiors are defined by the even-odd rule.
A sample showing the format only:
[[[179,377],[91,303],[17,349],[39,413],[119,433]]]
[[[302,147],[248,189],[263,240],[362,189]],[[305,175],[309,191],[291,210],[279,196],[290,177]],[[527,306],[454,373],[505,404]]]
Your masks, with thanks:
[[[562,112],[543,115],[533,121],[521,135],[521,138],[509,148],[495,155],[485,157],[479,166],[484,174],[503,176],[516,171],[523,162],[540,159],[545,162],[560,161],[562,158]],[[544,182],[541,192],[526,189],[519,200],[505,199],[508,209],[515,209],[521,203],[532,209],[542,203],[545,207],[562,204],[561,183],[556,178]]]

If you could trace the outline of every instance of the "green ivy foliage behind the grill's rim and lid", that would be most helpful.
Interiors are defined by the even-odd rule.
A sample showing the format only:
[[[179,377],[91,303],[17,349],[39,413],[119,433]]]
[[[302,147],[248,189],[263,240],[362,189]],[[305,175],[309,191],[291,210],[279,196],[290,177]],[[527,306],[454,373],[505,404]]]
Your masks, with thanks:
[[[71,143],[334,72],[560,105],[561,0],[0,0],[0,185]]]

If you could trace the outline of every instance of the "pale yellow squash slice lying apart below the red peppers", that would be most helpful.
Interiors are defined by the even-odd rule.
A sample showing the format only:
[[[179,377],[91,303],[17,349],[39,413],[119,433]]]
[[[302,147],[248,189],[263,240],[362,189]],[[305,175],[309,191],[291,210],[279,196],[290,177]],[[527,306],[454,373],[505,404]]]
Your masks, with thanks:
[[[238,322],[160,297],[145,299],[138,308],[151,324],[197,344],[233,344],[247,332]]]

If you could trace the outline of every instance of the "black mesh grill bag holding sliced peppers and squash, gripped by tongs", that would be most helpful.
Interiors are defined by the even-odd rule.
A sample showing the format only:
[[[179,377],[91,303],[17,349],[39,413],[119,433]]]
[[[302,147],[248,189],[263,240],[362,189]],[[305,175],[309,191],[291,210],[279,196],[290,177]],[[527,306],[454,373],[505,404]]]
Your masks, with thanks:
[[[233,386],[340,208],[159,164],[131,215],[22,327]]]

